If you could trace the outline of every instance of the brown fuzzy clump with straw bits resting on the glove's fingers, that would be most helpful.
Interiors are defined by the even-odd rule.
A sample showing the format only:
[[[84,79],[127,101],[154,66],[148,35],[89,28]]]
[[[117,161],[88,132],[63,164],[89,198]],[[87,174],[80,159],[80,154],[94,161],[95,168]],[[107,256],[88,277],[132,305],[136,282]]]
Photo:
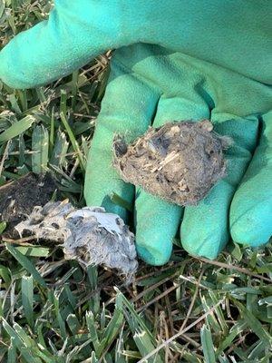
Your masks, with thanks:
[[[231,140],[212,131],[209,120],[149,128],[127,144],[113,141],[113,165],[125,182],[179,205],[195,205],[226,175],[223,151]]]

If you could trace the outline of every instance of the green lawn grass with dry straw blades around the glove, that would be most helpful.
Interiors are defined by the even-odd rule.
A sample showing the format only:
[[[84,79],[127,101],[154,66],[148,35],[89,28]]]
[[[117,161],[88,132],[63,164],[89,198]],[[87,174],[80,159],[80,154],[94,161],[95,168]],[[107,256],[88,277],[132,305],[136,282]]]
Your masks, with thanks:
[[[0,0],[1,44],[49,8],[45,0]],[[46,87],[15,91],[0,83],[0,185],[48,168],[63,198],[83,205],[108,70],[106,54]],[[209,261],[188,256],[177,241],[169,264],[141,263],[125,286],[115,271],[63,260],[57,246],[2,240],[0,361],[268,363],[271,278],[270,245],[232,244]]]

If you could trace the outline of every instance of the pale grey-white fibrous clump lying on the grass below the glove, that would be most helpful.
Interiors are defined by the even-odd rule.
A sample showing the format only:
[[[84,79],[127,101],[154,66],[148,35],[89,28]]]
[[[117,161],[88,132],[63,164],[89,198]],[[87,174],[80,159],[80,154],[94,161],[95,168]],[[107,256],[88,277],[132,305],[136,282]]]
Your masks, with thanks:
[[[15,229],[21,236],[27,231],[37,239],[62,243],[67,260],[118,269],[127,281],[138,267],[133,233],[117,214],[103,208],[76,210],[68,200],[50,201],[34,207]]]

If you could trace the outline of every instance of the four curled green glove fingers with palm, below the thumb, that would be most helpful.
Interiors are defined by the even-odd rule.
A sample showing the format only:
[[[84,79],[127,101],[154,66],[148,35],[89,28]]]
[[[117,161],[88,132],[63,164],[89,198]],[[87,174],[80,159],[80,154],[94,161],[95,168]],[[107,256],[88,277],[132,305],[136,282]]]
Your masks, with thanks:
[[[184,249],[210,259],[224,248],[229,231],[239,243],[267,242],[272,231],[271,97],[265,84],[159,46],[135,44],[116,51],[92,141],[87,203],[121,214],[108,195],[115,191],[129,202],[134,199],[134,188],[112,169],[115,132],[132,140],[150,124],[209,118],[216,132],[234,141],[227,152],[228,176],[198,206],[184,211],[137,188],[138,253],[151,264],[166,262],[179,228]]]

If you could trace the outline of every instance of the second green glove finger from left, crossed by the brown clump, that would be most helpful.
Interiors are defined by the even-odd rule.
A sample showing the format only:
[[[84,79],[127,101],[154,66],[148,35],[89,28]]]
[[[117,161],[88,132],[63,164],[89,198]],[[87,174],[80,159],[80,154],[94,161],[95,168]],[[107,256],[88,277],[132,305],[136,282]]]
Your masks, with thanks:
[[[189,89],[192,92],[189,94],[187,90],[187,98],[160,98],[154,127],[173,120],[209,118],[208,105],[201,101],[193,87]],[[162,201],[141,188],[137,190],[134,214],[136,246],[142,260],[152,265],[162,265],[170,259],[172,240],[179,229],[182,212],[178,205]]]

